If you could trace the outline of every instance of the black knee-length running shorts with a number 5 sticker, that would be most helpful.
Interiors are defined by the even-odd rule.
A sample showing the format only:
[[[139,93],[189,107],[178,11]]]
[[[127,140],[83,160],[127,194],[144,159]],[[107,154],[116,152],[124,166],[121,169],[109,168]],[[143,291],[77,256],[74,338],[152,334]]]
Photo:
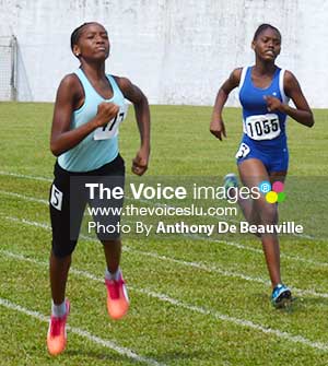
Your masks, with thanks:
[[[82,221],[83,232],[87,235],[87,235],[90,237],[95,232],[101,241],[119,238],[125,186],[125,162],[120,155],[101,168],[86,173],[65,170],[56,162],[54,175],[49,208],[52,253],[56,257],[72,253]]]

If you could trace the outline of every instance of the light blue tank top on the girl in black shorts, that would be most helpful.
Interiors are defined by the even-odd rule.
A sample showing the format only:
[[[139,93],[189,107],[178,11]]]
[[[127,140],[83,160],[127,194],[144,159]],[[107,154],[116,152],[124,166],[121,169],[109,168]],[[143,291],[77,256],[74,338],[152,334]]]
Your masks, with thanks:
[[[112,102],[120,108],[125,107],[125,97],[119,90],[115,79],[106,75],[112,88],[113,97],[104,99],[92,86],[82,69],[74,72],[84,90],[84,104],[72,114],[70,129],[73,130],[79,126],[86,123],[97,114],[97,106],[102,102]],[[86,135],[78,145],[62,153],[58,157],[60,167],[68,172],[90,172],[110,163],[118,155],[118,131],[112,138],[106,140],[95,139],[97,130]]]

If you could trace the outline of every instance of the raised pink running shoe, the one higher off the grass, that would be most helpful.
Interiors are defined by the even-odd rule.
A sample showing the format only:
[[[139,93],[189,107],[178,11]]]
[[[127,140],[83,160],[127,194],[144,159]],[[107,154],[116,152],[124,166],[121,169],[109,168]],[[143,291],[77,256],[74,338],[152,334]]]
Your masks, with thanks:
[[[119,272],[117,281],[105,279],[105,285],[107,287],[108,314],[115,320],[120,319],[129,309],[128,292],[121,272]]]

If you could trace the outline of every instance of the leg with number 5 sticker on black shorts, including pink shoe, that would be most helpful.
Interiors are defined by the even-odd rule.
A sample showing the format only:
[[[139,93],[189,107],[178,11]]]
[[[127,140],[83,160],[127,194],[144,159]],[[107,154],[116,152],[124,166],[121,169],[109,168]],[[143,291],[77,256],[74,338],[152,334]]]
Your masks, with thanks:
[[[55,181],[50,188],[50,219],[52,247],[49,260],[51,288],[51,317],[47,333],[47,346],[51,355],[61,353],[67,343],[66,323],[70,311],[66,299],[66,284],[71,253],[77,245],[85,200],[78,200],[78,210],[70,214],[70,177],[58,165],[55,167]],[[74,217],[74,224],[71,221]],[[73,229],[72,229],[73,226]]]

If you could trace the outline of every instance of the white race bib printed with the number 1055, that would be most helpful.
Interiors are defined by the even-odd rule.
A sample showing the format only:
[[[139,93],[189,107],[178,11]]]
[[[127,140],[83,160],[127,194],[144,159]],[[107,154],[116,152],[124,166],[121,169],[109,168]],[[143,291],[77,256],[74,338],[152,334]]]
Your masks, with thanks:
[[[272,140],[280,134],[279,118],[276,114],[249,116],[245,120],[244,129],[253,140]]]

